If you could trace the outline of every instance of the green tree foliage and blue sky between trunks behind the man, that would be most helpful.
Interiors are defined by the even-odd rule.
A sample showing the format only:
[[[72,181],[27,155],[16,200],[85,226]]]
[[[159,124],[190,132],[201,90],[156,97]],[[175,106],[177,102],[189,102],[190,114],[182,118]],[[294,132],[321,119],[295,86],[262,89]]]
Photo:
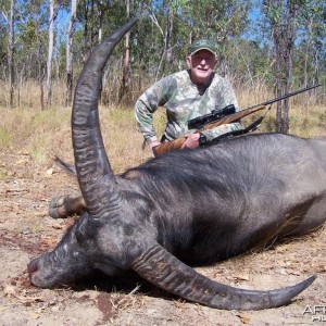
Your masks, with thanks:
[[[71,2],[59,1],[62,18],[57,23],[53,76],[65,77],[67,18]],[[103,37],[126,20],[126,2],[118,0],[77,2],[74,34],[74,75]],[[134,0],[130,15],[146,13],[130,33],[130,62],[134,98],[155,79],[185,68],[191,41],[212,38],[218,46],[217,71],[237,85],[263,83],[274,87],[273,24],[280,30],[285,13],[296,5],[297,37],[293,57],[293,87],[326,79],[326,3],[319,0]],[[10,1],[0,10],[7,14]],[[256,14],[253,16],[253,10]],[[20,1],[15,4],[15,73],[17,83],[41,80],[48,51],[49,1]],[[122,78],[124,42],[118,43],[110,63],[110,85],[118,88]],[[0,79],[7,82],[8,24],[0,13]],[[104,83],[105,84],[105,83]],[[111,88],[111,89],[112,89]],[[110,89],[110,96],[117,98]],[[17,95],[17,92],[16,92]]]

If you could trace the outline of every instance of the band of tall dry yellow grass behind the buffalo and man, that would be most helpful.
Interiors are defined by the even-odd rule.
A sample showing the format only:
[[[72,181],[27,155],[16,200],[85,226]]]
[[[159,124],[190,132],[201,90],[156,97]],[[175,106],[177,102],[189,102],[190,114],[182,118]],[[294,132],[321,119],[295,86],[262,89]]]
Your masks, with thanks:
[[[0,84],[5,93],[5,87]],[[0,101],[0,150],[21,151],[33,158],[38,164],[51,166],[52,158],[59,155],[73,162],[71,142],[71,109],[64,106],[63,86],[53,86],[53,103],[55,108],[41,111],[39,104],[39,87],[35,83],[27,83],[21,90],[21,105],[8,109],[5,98]],[[60,97],[61,93],[61,97]],[[273,98],[264,88],[258,87],[250,91],[238,91],[240,108],[264,102]],[[248,125],[256,116],[242,120]],[[275,130],[275,106],[267,113],[260,131]],[[142,137],[135,121],[133,108],[100,109],[104,143],[109,151],[113,168],[116,173],[137,165],[148,158],[151,152],[141,149]],[[162,134],[165,126],[164,110],[154,115],[158,134]],[[314,105],[313,99],[298,96],[291,103],[290,133],[302,137],[326,135],[326,111],[324,105]]]

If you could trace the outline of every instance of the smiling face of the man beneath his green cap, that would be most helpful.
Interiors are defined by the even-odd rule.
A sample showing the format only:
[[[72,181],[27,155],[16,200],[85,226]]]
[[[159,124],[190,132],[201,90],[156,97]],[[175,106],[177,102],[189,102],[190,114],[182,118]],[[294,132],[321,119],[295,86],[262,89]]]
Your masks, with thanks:
[[[196,85],[203,85],[209,82],[215,64],[215,55],[208,50],[199,50],[187,58],[187,64],[190,68],[191,82]]]

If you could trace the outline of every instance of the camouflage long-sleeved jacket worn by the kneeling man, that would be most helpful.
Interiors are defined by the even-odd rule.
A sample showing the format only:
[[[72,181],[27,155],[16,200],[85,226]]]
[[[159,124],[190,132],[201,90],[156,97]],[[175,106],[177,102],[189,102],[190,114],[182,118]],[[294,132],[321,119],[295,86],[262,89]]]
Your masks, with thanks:
[[[140,131],[150,143],[158,140],[152,114],[159,106],[164,106],[167,114],[164,136],[167,140],[173,140],[195,133],[195,129],[188,129],[189,120],[229,104],[235,104],[238,111],[234,89],[226,79],[213,74],[208,85],[200,87],[191,83],[188,71],[181,71],[162,78],[143,92],[136,102],[135,114]],[[241,128],[239,123],[233,123],[202,134],[210,141],[222,134]]]

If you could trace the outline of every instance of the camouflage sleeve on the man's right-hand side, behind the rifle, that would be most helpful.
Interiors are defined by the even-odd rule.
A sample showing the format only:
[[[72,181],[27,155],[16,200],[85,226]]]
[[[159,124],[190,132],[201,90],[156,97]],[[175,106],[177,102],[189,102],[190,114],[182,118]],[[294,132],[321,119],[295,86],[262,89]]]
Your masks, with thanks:
[[[230,84],[227,82],[224,85],[222,97],[223,97],[224,108],[228,104],[234,104],[236,106],[236,111],[239,111],[239,105],[238,105],[238,101],[237,101],[235,91],[234,91],[233,87],[230,86]],[[202,131],[202,134],[206,137],[208,141],[212,141],[214,138],[218,137],[220,135],[223,135],[223,134],[226,134],[229,131],[240,130],[240,129],[243,129],[243,127],[240,123],[231,123],[231,124],[221,125],[213,129],[204,130],[204,131]]]

